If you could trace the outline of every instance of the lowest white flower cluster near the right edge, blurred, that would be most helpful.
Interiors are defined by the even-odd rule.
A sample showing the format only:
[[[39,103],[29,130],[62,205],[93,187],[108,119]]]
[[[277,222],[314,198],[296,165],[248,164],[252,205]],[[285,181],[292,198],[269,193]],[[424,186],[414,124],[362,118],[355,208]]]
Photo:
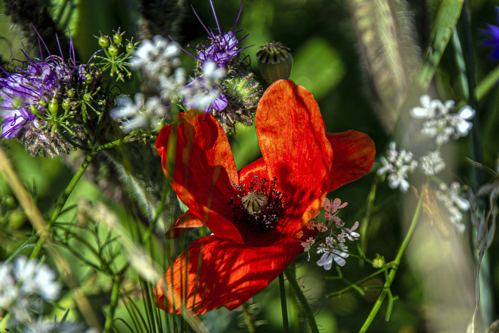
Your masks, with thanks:
[[[449,221],[456,226],[459,232],[464,232],[466,226],[463,224],[463,213],[470,209],[470,201],[459,195],[461,185],[454,181],[448,187],[447,184],[441,183],[440,190],[436,191],[435,195],[441,201],[450,213]]]

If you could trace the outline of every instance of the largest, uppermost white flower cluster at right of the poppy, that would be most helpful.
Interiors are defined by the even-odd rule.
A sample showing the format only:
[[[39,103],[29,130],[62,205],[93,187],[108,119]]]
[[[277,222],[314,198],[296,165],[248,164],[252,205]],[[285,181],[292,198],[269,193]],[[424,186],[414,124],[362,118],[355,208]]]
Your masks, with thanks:
[[[442,103],[440,100],[431,100],[430,96],[423,95],[419,101],[421,107],[413,108],[411,116],[425,120],[421,133],[435,138],[437,145],[448,142],[450,138],[464,137],[473,127],[469,120],[475,116],[475,110],[469,105],[457,113],[451,113],[455,108],[452,100]]]

